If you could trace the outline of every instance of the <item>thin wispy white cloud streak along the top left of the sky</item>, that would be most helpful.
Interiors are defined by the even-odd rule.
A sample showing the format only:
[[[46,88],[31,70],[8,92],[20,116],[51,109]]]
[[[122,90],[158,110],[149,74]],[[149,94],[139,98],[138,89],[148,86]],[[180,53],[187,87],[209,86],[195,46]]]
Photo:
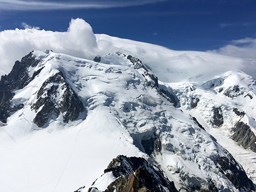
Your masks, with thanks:
[[[87,0],[87,1],[39,1],[0,0],[0,10],[58,10],[58,9],[104,9],[138,6],[167,0]]]

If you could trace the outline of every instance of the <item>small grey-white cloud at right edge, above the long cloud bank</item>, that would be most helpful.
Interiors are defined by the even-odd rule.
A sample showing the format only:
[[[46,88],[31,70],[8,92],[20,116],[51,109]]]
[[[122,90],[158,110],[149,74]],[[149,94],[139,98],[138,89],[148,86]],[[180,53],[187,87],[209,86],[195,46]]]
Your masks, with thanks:
[[[209,52],[232,57],[256,59],[256,39],[247,37],[232,40],[228,45]]]

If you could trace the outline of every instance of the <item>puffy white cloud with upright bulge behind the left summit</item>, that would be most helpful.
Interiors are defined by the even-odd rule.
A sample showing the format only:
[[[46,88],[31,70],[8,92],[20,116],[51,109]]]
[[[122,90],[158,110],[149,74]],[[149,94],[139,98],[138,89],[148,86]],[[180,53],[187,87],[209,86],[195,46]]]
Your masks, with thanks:
[[[97,51],[96,37],[90,24],[79,18],[71,19],[67,32],[38,28],[0,32],[0,75],[9,73],[14,62],[30,51],[45,49],[91,59]]]

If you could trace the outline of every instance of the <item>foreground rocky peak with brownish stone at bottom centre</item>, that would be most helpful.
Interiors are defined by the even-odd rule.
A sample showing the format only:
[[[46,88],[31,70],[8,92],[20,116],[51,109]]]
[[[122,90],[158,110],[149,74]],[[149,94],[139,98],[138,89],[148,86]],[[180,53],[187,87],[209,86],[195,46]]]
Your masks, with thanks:
[[[160,168],[143,158],[118,156],[104,173],[109,171],[117,179],[104,192],[178,192],[174,183],[163,176]]]

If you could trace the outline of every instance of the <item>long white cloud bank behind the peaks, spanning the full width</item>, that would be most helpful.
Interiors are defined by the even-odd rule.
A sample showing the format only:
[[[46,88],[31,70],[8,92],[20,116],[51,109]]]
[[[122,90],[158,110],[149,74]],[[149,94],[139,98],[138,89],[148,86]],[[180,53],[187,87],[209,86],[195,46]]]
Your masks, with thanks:
[[[16,29],[0,32],[0,75],[10,72],[14,62],[32,50],[52,49],[55,53],[64,53],[75,57],[92,60],[96,55],[104,56],[116,51],[138,57],[144,64],[154,69],[164,82],[184,80],[191,76],[207,73],[219,74],[220,71],[242,70],[255,77],[256,60],[231,58],[205,52],[172,51],[167,48],[94,34],[92,27],[83,19],[72,19],[66,32],[52,32],[37,29]],[[250,53],[255,58],[256,39],[244,38],[233,40],[212,52],[223,55],[240,56]],[[234,46],[230,49],[230,46]],[[243,50],[244,49],[244,50]],[[251,52],[248,50],[251,50]],[[239,53],[238,53],[239,52]],[[157,66],[156,66],[157,64]],[[162,71],[169,71],[164,76]],[[206,76],[205,76],[206,78]]]

